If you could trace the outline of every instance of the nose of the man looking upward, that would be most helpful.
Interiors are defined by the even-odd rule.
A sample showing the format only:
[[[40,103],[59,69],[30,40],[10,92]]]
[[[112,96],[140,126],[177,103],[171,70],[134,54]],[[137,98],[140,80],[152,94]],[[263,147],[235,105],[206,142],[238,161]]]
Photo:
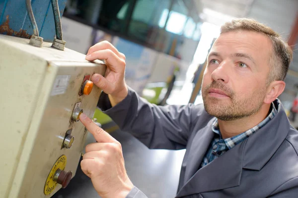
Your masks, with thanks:
[[[221,62],[219,66],[212,72],[211,77],[214,81],[222,81],[227,83],[230,75],[230,64],[227,61]]]

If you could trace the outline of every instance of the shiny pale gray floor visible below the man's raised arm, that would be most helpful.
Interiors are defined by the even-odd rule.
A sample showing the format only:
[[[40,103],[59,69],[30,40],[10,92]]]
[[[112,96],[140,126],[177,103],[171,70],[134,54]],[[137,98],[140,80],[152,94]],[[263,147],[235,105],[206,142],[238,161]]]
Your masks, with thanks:
[[[132,135],[119,130],[111,133],[123,148],[127,174],[149,198],[174,198],[185,150],[150,150]],[[52,198],[99,198],[80,166],[66,189]]]

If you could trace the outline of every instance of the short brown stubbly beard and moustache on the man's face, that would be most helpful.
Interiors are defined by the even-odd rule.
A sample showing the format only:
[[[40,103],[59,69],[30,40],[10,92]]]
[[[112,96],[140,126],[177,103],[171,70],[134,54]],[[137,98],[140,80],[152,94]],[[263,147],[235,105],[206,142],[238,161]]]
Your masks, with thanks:
[[[209,96],[211,88],[224,91],[229,98],[219,99]],[[204,107],[208,114],[223,121],[232,121],[249,117],[258,112],[262,107],[265,91],[266,88],[259,89],[254,91],[249,97],[241,99],[224,84],[213,81],[202,89],[202,96]]]

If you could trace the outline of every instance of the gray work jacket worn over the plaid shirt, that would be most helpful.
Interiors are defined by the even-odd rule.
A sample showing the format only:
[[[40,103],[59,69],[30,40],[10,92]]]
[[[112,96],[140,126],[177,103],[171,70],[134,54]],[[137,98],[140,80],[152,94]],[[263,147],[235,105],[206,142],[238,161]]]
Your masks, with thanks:
[[[298,131],[282,104],[268,124],[201,169],[215,119],[203,104],[156,106],[129,88],[114,107],[102,93],[98,106],[148,148],[186,148],[177,198],[298,198]],[[134,187],[127,198],[147,197]]]

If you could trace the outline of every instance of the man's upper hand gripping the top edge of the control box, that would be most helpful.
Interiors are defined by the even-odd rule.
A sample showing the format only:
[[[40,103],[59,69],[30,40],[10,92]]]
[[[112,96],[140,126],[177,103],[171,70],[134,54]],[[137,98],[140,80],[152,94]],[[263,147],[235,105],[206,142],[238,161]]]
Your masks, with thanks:
[[[92,75],[91,81],[102,91],[109,95],[112,106],[122,101],[128,94],[124,81],[125,55],[120,53],[107,41],[92,46],[86,55],[86,60],[105,60],[107,65],[105,76]]]

